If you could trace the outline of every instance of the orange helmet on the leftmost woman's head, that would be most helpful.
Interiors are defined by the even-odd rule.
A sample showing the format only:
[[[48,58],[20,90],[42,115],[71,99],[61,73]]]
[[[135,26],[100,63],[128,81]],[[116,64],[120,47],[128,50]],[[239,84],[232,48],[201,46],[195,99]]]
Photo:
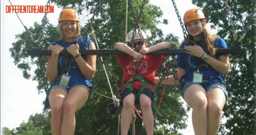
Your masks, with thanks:
[[[64,20],[74,20],[79,22],[79,16],[74,9],[63,9],[59,15],[59,22]]]

